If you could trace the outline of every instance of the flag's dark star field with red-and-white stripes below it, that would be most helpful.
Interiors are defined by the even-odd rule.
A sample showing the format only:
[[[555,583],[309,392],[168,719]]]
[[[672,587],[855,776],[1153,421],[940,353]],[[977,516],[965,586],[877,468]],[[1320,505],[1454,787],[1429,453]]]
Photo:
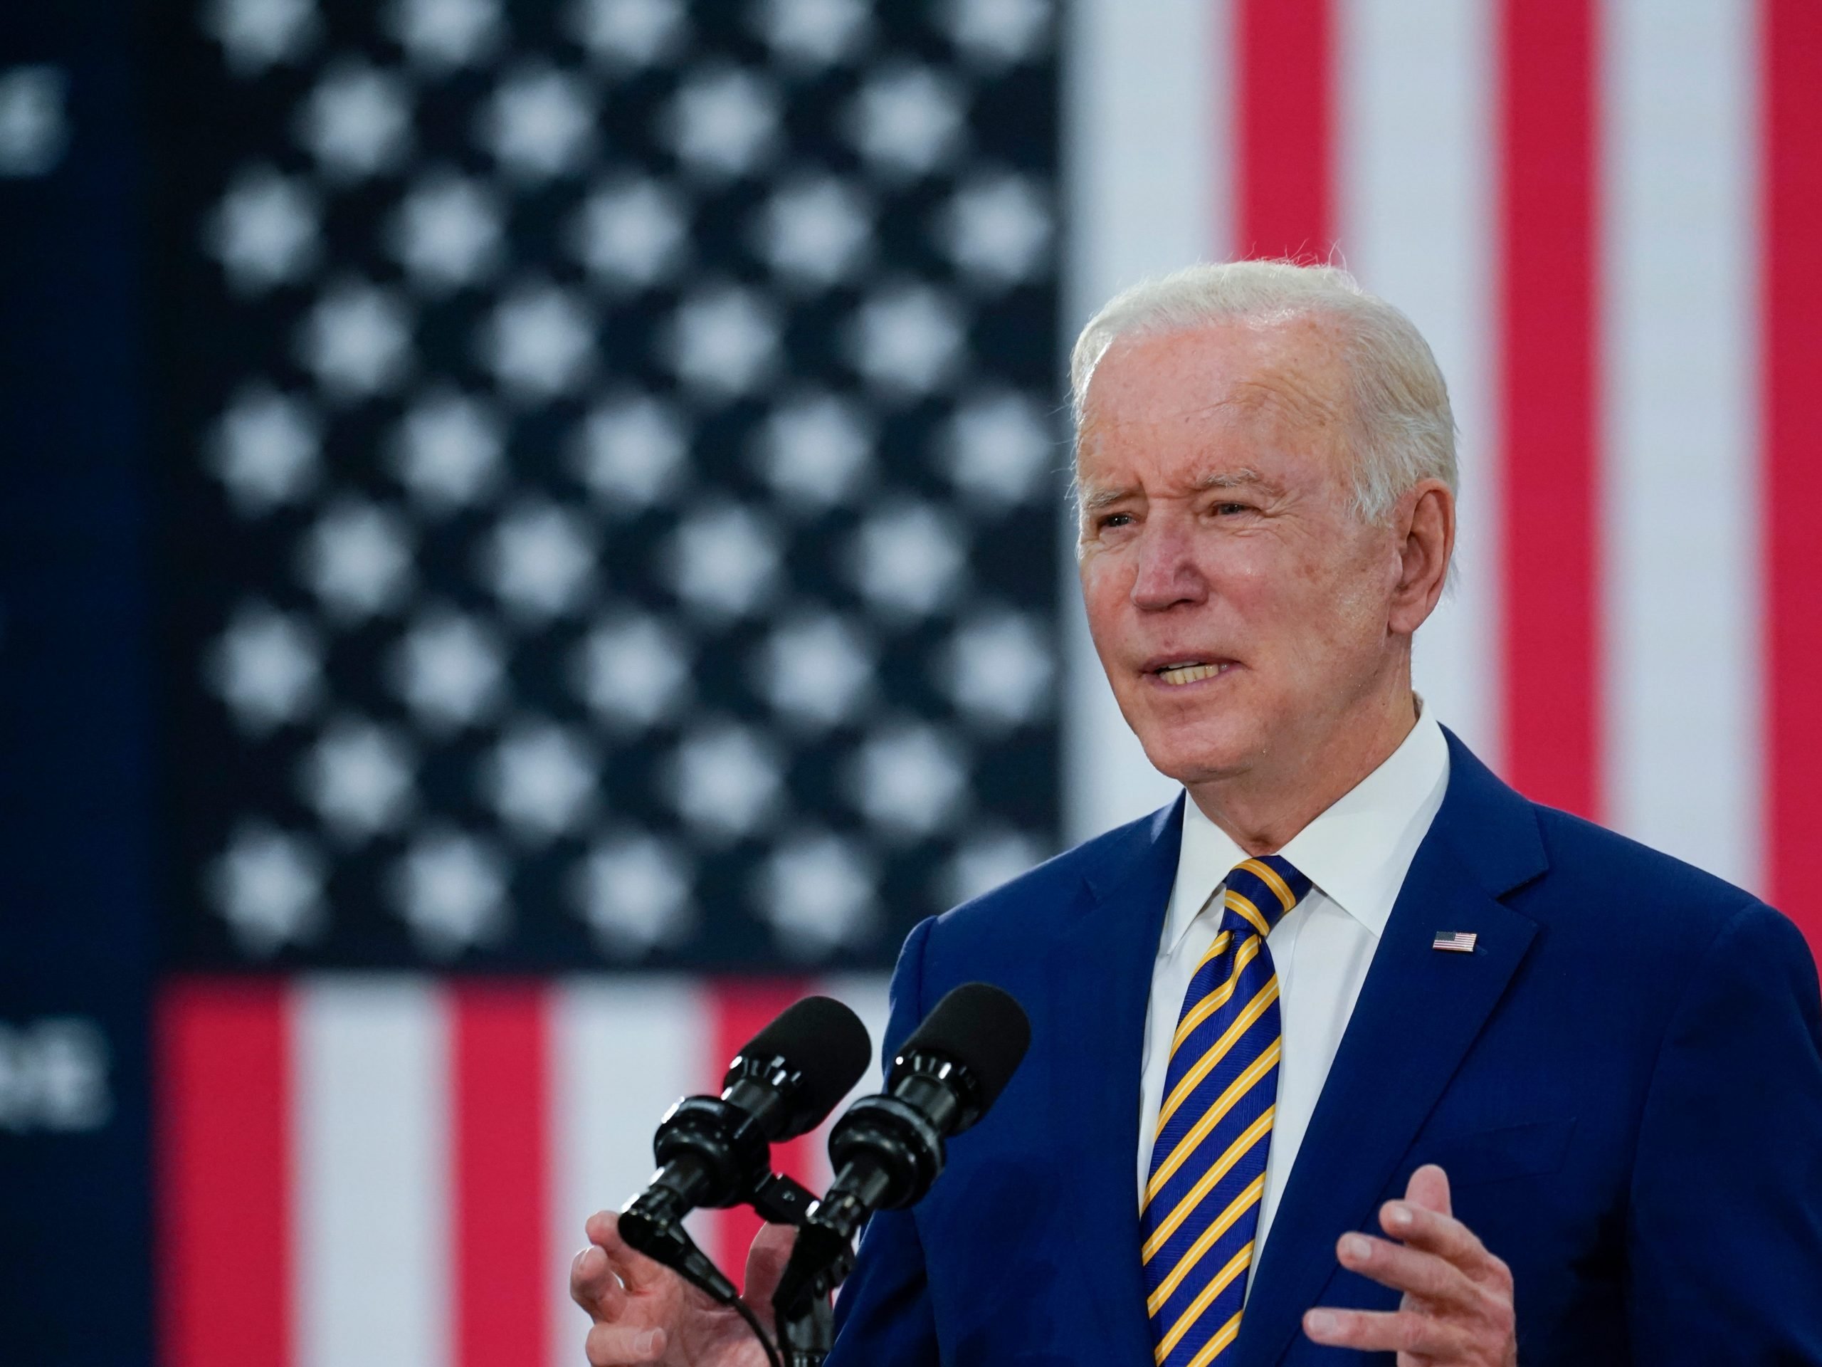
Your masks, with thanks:
[[[160,35],[166,1360],[576,1362],[665,1106],[1059,846],[1055,18]]]

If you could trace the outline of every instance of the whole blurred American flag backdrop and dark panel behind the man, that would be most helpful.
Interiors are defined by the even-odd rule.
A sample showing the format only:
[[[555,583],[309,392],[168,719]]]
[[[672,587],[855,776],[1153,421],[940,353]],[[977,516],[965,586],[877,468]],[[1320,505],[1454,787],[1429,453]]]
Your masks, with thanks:
[[[1441,720],[1822,940],[1818,239],[1815,0],[5,7],[0,1362],[581,1362],[676,1095],[1170,798],[1062,359],[1197,259],[1434,344]]]

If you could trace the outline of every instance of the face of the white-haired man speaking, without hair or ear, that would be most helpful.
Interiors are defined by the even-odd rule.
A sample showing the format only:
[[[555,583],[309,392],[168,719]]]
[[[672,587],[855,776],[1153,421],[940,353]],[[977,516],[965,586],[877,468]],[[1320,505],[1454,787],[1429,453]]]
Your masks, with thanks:
[[[1124,337],[1095,370],[1082,598],[1121,711],[1172,778],[1319,766],[1397,669],[1399,543],[1352,510],[1352,436],[1323,319]]]

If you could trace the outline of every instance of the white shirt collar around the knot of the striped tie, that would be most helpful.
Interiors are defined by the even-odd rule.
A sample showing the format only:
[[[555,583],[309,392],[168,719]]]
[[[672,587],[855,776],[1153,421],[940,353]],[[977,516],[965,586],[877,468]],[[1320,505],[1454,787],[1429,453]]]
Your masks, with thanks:
[[[1448,742],[1428,707],[1385,762],[1279,851],[1377,939],[1448,787]],[[1228,871],[1246,858],[1195,798],[1182,804],[1182,851],[1159,948],[1170,953]]]

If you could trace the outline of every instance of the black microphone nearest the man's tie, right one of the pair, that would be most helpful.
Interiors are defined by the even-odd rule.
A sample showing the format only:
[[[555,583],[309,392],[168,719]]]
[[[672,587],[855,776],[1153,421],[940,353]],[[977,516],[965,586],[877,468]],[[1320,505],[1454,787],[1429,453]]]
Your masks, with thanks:
[[[885,1092],[856,1101],[829,1132],[838,1176],[798,1230],[773,1296],[778,1323],[842,1283],[867,1216],[924,1199],[942,1174],[944,1139],[988,1114],[1029,1044],[1024,1008],[995,986],[964,982],[937,1002],[893,1059]]]

